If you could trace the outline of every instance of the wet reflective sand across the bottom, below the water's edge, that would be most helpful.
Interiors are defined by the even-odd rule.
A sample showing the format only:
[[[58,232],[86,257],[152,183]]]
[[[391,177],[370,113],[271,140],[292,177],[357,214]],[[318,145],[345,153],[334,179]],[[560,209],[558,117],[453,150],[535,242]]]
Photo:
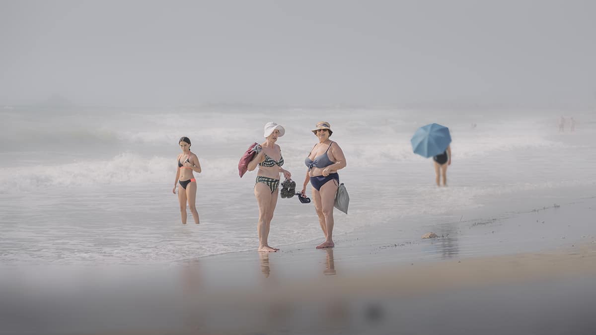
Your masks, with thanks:
[[[278,253],[4,266],[0,334],[594,334],[595,198]],[[439,238],[423,240],[432,230]],[[420,234],[419,234],[420,233]]]

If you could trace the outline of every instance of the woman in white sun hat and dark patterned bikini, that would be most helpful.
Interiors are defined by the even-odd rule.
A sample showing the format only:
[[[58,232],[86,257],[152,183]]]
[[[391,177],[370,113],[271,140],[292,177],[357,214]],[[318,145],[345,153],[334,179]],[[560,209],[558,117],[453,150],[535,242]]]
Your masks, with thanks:
[[[258,153],[248,166],[249,171],[259,166],[256,183],[254,184],[254,197],[257,198],[259,204],[259,223],[257,224],[259,252],[276,252],[280,250],[270,247],[267,238],[269,237],[269,227],[277,204],[280,173],[283,173],[286,179],[291,177],[288,170],[281,168],[284,165],[284,157],[281,156],[280,146],[275,144],[277,139],[284,134],[285,129],[283,126],[275,122],[266,123],[263,133],[265,142],[257,148]]]

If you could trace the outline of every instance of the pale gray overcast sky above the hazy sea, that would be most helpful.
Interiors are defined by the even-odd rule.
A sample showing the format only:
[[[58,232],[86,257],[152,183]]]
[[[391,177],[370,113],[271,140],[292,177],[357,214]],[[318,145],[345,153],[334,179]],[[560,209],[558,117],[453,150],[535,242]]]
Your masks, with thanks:
[[[596,101],[596,1],[0,0],[0,103]]]

